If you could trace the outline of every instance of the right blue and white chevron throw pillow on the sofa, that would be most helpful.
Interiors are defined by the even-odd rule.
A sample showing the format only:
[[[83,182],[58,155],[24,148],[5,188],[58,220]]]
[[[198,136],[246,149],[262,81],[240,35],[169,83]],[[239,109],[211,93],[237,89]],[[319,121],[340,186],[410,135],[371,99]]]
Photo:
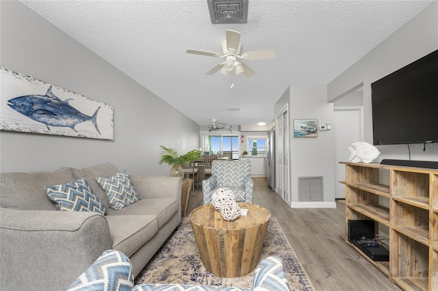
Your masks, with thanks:
[[[120,171],[120,173],[117,173],[112,177],[97,177],[96,181],[107,193],[111,208],[114,210],[119,210],[140,200],[136,189],[132,186],[131,179],[129,179],[126,170]]]

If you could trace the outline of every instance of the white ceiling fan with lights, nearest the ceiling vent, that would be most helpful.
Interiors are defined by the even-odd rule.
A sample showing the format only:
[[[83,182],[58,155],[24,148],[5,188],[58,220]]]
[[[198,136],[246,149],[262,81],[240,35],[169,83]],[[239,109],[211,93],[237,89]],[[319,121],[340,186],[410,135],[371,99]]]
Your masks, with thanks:
[[[206,74],[215,74],[220,70],[221,74],[228,76],[230,72],[234,70],[236,75],[244,73],[246,77],[253,76],[255,72],[251,70],[246,64],[238,61],[240,59],[246,59],[252,61],[255,59],[275,59],[275,51],[273,49],[266,49],[263,51],[248,51],[240,55],[242,50],[242,42],[240,42],[240,32],[227,29],[227,39],[223,40],[220,44],[222,48],[222,54],[211,53],[209,51],[199,51],[196,49],[188,49],[187,53],[194,55],[207,55],[208,57],[224,57],[225,60],[222,63],[217,64],[209,70]]]

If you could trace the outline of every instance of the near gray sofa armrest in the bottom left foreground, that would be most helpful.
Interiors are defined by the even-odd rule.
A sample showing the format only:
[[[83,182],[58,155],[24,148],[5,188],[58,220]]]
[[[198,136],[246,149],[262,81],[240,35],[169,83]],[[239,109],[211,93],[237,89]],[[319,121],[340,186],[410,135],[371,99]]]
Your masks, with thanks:
[[[64,290],[112,248],[95,212],[0,208],[0,228],[1,290]]]

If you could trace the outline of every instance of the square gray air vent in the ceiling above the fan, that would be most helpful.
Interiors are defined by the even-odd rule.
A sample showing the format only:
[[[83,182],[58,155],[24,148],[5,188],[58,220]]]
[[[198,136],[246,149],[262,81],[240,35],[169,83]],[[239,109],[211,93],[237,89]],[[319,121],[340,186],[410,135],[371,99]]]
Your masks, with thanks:
[[[207,0],[211,23],[246,23],[248,0]]]

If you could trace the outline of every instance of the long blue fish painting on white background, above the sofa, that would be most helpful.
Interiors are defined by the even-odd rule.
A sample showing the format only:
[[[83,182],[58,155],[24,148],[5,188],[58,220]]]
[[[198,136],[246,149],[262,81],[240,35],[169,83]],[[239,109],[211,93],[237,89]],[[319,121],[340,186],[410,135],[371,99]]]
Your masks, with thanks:
[[[111,105],[0,67],[0,129],[114,139]]]

